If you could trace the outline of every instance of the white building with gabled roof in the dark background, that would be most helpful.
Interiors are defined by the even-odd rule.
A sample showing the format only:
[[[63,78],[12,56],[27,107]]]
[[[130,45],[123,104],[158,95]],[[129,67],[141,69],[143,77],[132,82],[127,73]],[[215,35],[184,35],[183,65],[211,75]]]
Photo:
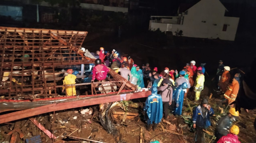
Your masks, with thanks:
[[[239,18],[224,16],[228,11],[219,0],[201,0],[179,16],[151,16],[150,30],[182,31],[182,36],[234,41]],[[155,20],[152,20],[156,18]]]

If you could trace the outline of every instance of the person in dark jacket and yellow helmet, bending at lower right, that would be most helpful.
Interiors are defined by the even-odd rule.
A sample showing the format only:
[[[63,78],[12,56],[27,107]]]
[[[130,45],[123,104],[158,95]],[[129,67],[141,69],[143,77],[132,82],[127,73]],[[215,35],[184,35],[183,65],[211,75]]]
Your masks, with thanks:
[[[218,141],[222,136],[228,135],[228,130],[231,127],[231,123],[236,121],[239,117],[239,112],[235,108],[231,107],[227,115],[224,115],[217,122],[217,127],[215,130],[216,141]]]

